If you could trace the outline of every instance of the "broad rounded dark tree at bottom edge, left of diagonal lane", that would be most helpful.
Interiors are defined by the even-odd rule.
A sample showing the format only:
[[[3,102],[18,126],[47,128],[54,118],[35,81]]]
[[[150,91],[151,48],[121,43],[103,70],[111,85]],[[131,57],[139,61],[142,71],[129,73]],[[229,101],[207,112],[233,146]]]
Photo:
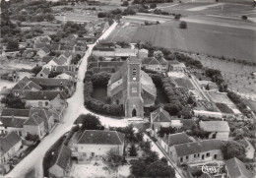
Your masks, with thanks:
[[[145,177],[175,177],[175,171],[167,163],[158,160],[146,168]]]

